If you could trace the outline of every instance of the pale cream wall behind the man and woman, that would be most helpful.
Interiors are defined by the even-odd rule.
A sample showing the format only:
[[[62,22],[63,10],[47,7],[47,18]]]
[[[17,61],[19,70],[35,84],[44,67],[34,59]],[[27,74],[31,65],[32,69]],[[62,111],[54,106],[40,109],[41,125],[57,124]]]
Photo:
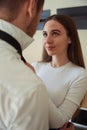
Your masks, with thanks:
[[[87,0],[45,0],[44,9],[50,9],[51,14],[56,13],[57,8],[67,8],[67,7],[76,7],[76,6],[86,6]],[[78,30],[79,37],[81,40],[81,46],[83,50],[83,55],[85,63],[87,66],[87,30]],[[34,35],[35,41],[29,45],[27,49],[23,51],[23,55],[26,60],[30,63],[38,61],[41,59],[42,52],[42,31],[37,31]]]

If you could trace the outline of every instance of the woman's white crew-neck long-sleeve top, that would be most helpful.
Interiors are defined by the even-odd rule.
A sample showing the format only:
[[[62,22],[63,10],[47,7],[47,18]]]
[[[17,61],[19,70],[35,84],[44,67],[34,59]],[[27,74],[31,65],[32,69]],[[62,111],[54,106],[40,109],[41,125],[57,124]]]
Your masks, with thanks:
[[[87,70],[69,62],[53,68],[50,63],[32,64],[44,81],[49,97],[50,127],[59,128],[71,119],[87,91]]]

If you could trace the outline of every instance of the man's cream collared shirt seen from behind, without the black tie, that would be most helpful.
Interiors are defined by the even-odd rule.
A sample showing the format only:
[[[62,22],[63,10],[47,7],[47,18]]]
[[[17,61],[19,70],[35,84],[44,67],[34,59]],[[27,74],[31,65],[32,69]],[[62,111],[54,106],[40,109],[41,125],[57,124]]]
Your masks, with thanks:
[[[32,38],[0,20],[0,29],[19,41],[22,50]],[[48,96],[43,82],[17,50],[0,39],[0,130],[48,130]]]

